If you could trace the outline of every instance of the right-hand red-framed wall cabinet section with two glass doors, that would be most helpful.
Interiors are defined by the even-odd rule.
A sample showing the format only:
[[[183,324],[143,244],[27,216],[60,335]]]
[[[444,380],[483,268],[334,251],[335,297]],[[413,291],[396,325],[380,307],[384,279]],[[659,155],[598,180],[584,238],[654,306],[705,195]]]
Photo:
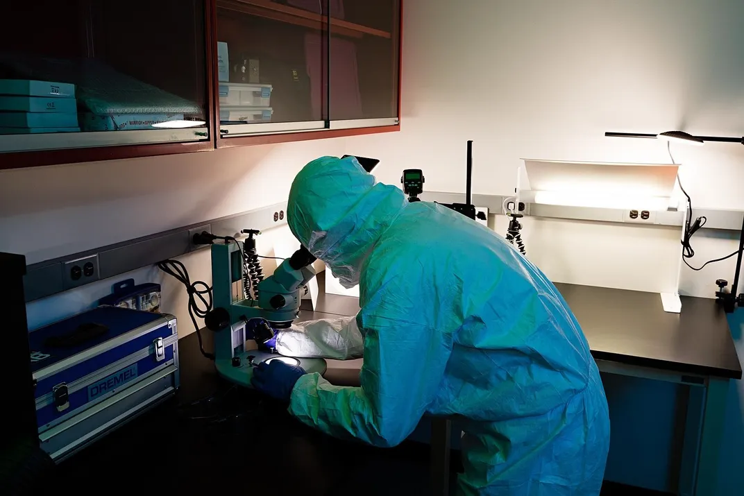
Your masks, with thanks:
[[[397,130],[399,0],[217,0],[218,146]]]

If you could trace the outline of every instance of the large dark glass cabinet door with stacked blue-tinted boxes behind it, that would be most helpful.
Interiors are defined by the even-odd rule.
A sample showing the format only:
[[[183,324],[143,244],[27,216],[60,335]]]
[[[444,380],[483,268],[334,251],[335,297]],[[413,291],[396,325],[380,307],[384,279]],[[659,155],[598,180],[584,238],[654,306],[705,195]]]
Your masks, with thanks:
[[[211,139],[206,0],[7,3],[0,153]]]

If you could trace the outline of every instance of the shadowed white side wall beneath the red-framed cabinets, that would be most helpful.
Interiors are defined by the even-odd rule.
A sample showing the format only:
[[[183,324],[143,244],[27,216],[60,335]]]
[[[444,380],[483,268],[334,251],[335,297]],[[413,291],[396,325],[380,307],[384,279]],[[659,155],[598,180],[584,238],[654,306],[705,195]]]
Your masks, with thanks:
[[[281,202],[304,164],[343,154],[344,141],[321,140],[0,171],[0,251],[31,264]],[[260,254],[292,242],[288,229],[272,231],[260,236]],[[192,280],[211,283],[208,251],[182,261]],[[266,260],[269,273],[273,266]],[[30,328],[92,308],[126,277],[161,283],[163,310],[180,335],[193,332],[185,289],[155,267],[30,303]]]

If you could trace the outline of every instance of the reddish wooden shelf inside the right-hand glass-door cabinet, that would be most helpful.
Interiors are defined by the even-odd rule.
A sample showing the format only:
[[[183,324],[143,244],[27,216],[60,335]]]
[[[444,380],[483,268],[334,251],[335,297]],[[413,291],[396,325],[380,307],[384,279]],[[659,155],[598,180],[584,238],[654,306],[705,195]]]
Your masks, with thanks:
[[[289,7],[289,5],[278,4],[270,0],[217,0],[217,7],[221,10],[246,13],[251,16],[259,16],[313,29],[318,29],[325,21],[325,16],[321,16],[320,14]],[[392,36],[387,31],[368,28],[367,26],[333,18],[330,19],[330,31],[334,34],[354,38],[370,35],[389,39]]]

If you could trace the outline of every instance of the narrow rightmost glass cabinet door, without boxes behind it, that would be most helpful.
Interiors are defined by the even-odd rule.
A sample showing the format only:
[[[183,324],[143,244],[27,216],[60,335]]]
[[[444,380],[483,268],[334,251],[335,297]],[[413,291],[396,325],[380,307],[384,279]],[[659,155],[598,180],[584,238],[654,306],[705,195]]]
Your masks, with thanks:
[[[397,124],[400,0],[332,0],[330,17],[330,128]]]

